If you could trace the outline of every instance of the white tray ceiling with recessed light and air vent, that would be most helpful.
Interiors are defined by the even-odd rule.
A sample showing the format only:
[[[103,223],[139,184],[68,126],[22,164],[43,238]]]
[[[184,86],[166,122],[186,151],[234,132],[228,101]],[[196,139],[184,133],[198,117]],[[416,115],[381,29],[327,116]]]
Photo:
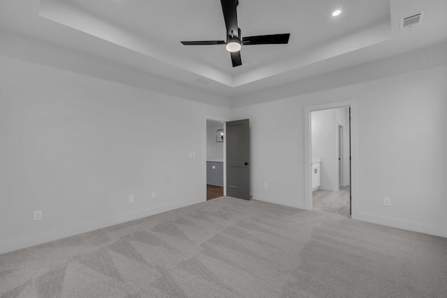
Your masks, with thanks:
[[[400,30],[421,10],[423,24]],[[445,0],[240,0],[242,36],[291,37],[243,46],[236,68],[223,45],[180,43],[226,39],[219,0],[1,0],[0,29],[235,98],[442,43],[446,13]]]

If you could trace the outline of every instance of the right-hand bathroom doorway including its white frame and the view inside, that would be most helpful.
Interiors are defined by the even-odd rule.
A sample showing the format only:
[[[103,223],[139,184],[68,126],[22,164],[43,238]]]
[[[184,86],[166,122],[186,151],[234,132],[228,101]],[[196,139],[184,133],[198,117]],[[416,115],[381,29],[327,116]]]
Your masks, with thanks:
[[[351,134],[355,125],[353,107],[356,108],[355,100],[305,109],[305,159],[309,165],[305,171],[307,209],[347,217],[353,214],[355,181],[351,177],[356,171],[352,167],[352,144],[356,144]]]

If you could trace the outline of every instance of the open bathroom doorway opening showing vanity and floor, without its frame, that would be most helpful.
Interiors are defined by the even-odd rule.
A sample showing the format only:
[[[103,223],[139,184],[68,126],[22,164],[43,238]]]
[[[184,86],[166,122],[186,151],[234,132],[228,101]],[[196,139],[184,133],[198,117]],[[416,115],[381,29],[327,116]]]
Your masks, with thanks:
[[[311,112],[313,209],[351,217],[351,108]]]

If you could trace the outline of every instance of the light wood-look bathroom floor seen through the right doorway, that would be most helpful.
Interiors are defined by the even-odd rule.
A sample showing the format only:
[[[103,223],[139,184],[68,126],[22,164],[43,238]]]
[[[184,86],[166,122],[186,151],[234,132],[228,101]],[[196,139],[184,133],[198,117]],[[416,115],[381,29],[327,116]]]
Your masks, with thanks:
[[[351,217],[349,193],[350,186],[342,186],[339,191],[325,191],[318,189],[312,193],[312,204],[314,210],[327,211],[343,216]]]

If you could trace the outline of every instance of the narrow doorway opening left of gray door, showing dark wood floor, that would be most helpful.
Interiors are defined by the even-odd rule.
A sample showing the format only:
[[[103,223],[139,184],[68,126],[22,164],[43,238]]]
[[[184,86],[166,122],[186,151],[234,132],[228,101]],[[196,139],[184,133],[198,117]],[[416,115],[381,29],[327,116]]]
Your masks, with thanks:
[[[224,122],[207,119],[207,200],[223,196]]]

